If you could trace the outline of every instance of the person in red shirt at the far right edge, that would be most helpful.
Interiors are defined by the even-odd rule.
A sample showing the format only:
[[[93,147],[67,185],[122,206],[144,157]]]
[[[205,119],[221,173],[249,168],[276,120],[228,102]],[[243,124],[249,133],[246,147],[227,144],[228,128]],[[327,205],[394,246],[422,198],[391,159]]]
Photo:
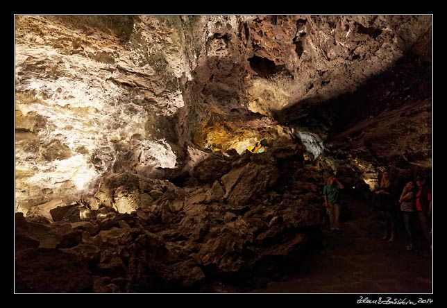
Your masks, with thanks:
[[[430,249],[432,248],[432,240],[430,236],[430,216],[432,215],[432,190],[426,184],[425,178],[422,176],[416,177],[416,184],[418,185],[418,191],[416,193],[416,210],[419,216],[419,223],[421,229],[428,243]]]

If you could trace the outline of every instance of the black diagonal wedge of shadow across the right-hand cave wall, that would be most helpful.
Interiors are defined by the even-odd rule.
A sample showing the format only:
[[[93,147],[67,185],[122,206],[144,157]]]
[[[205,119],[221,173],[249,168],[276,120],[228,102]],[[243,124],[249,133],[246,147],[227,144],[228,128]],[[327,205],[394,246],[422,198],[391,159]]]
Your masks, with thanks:
[[[386,108],[400,108],[408,100],[432,95],[432,63],[416,55],[398,60],[393,67],[366,80],[354,92],[323,101],[318,96],[298,101],[277,111],[280,123],[303,126],[314,131],[330,129],[330,135],[346,131],[358,121],[378,117]]]

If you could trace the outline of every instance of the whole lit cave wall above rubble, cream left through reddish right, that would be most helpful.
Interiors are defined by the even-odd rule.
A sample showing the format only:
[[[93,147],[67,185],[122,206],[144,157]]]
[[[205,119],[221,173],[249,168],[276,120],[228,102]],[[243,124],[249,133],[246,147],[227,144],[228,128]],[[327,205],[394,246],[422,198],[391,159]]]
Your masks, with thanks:
[[[431,62],[431,27],[430,15],[16,16],[16,209],[182,166],[194,147],[290,135],[289,121],[399,59]],[[323,139],[331,106],[312,126]]]

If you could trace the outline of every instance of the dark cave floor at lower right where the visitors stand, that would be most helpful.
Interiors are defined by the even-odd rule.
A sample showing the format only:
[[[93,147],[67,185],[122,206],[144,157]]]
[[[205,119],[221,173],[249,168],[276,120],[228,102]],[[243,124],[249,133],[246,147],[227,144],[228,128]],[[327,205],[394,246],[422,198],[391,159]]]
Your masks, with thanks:
[[[432,255],[405,249],[407,234],[381,241],[378,214],[346,196],[352,218],[341,231],[323,230],[324,248],[312,252],[298,273],[254,293],[432,293]]]

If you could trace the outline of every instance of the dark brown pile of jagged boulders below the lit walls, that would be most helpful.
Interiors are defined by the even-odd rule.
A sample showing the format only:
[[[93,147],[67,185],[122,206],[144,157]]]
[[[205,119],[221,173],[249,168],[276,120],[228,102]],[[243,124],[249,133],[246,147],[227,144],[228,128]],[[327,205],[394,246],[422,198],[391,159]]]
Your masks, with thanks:
[[[319,239],[323,205],[301,143],[207,160],[192,172],[199,185],[119,173],[90,201],[51,209],[52,221],[17,213],[16,291],[217,292],[298,264]]]

